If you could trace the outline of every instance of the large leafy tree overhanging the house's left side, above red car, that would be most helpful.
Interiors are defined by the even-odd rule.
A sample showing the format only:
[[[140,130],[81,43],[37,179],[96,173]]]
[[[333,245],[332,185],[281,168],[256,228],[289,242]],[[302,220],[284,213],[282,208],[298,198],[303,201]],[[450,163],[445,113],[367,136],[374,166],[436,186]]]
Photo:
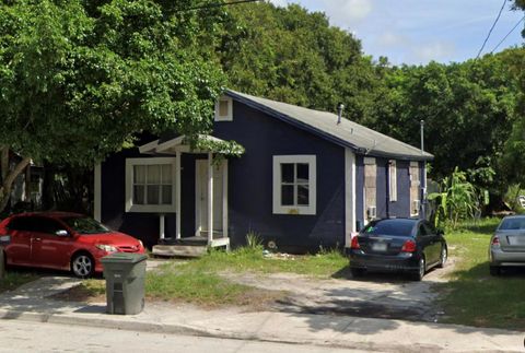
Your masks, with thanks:
[[[223,75],[199,34],[221,12],[180,11],[195,3],[2,2],[0,210],[31,160],[92,165],[142,130],[209,129]]]

